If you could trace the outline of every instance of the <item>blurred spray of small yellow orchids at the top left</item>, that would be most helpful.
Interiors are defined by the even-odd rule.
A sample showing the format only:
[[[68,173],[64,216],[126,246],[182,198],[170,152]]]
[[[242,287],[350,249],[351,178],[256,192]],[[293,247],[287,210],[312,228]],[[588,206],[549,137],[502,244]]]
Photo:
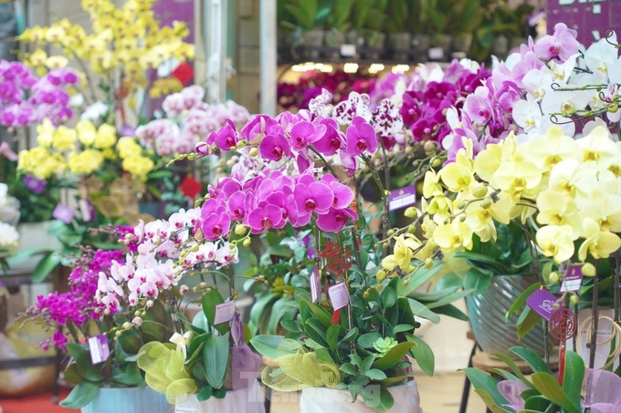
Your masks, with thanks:
[[[119,69],[123,88],[132,93],[147,86],[147,69],[173,57],[179,61],[195,57],[194,46],[183,42],[189,34],[187,26],[175,23],[161,27],[153,15],[153,3],[155,0],[127,0],[118,7],[111,0],[82,0],[91,29],[65,18],[51,26],[28,28],[19,39],[61,48],[64,56],[60,57],[47,57],[41,49],[34,51],[28,62],[35,67],[64,66],[67,57],[78,58],[93,73],[105,77],[110,78]]]

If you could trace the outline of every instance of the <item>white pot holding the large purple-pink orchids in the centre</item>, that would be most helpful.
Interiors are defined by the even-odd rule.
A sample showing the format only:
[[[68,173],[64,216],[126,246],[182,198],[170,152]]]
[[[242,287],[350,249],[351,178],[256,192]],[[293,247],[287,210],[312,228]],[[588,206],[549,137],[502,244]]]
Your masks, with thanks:
[[[388,412],[422,413],[416,381],[388,387],[388,390],[395,398],[395,405]],[[352,403],[352,395],[347,390],[310,387],[303,389],[300,397],[300,413],[376,413],[377,411],[379,410],[376,408],[366,406],[362,398]]]

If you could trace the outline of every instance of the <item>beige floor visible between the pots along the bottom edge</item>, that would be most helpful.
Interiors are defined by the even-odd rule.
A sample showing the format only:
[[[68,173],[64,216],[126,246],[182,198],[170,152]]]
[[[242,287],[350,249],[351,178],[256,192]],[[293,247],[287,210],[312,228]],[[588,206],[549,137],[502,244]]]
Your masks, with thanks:
[[[464,387],[463,373],[437,373],[434,377],[420,374],[416,377],[420,405],[424,413],[458,413],[461,392]],[[279,393],[272,395],[271,413],[299,413],[300,395],[298,393]],[[470,389],[467,413],[484,413],[485,404]],[[406,413],[406,412],[403,412]]]

